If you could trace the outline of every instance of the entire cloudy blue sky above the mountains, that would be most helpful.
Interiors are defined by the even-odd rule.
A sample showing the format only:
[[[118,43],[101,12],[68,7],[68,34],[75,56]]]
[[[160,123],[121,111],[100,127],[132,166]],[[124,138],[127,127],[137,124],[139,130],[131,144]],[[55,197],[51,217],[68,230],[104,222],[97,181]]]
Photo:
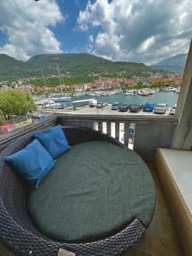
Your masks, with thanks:
[[[89,52],[147,65],[187,53],[191,0],[0,1],[0,54]]]

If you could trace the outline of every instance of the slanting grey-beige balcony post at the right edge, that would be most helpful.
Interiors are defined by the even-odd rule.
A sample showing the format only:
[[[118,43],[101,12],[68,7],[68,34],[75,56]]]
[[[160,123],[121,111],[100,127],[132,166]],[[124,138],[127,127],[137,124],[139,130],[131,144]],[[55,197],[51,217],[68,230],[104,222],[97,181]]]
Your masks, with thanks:
[[[172,148],[190,150],[192,147],[192,40],[177,101],[178,123],[172,138]]]

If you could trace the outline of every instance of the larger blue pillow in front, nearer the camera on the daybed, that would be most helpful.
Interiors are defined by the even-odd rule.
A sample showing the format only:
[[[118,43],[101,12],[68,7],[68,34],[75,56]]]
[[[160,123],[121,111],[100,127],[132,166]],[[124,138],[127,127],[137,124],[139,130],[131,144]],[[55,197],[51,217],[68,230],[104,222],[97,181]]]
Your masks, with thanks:
[[[9,155],[6,158],[9,163],[26,177],[33,189],[38,188],[38,183],[55,165],[55,160],[37,139],[29,143],[26,148]]]

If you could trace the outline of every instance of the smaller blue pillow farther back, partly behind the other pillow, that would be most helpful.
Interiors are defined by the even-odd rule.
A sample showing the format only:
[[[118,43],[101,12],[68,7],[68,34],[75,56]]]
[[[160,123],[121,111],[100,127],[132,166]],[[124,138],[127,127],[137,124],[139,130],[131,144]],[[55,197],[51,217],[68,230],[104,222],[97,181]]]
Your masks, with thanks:
[[[34,134],[40,143],[47,149],[49,154],[55,159],[71,147],[62,131],[61,125],[50,128],[47,131],[37,131]]]

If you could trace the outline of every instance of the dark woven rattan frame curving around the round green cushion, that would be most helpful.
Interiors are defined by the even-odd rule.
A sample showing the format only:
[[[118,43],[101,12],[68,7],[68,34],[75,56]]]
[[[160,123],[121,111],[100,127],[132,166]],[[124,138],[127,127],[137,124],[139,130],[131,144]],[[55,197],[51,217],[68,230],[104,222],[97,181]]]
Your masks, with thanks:
[[[125,148],[112,137],[97,131],[77,127],[65,127],[64,130],[71,145],[90,140],[105,140]],[[135,245],[145,231],[138,219],[134,219],[119,233],[100,241],[64,243],[43,236],[32,224],[27,210],[26,182],[4,160],[6,156],[24,148],[31,141],[32,134],[20,137],[0,154],[0,241],[20,256],[54,256],[60,248],[82,256],[112,256]]]

